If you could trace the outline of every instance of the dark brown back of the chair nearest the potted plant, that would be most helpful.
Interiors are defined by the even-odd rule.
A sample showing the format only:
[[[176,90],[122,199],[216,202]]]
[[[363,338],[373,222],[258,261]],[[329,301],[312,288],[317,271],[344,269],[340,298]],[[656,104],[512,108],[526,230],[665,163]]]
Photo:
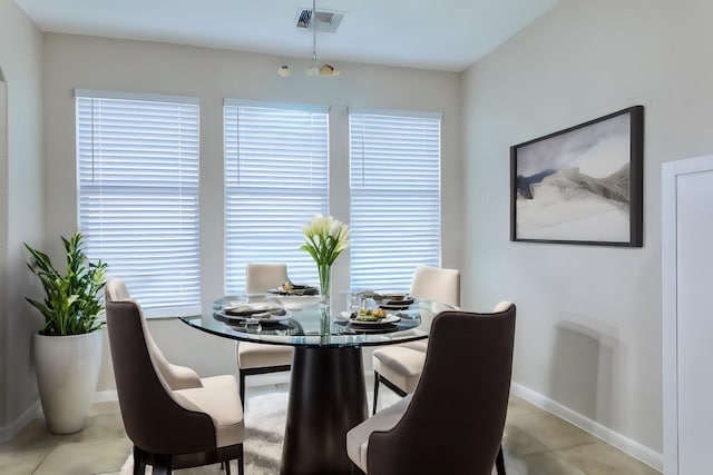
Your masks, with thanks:
[[[120,295],[107,283],[107,295]],[[154,454],[184,454],[215,448],[211,417],[184,408],[156,370],[147,347],[147,327],[134,299],[106,303],[107,328],[114,376],[128,437],[140,449]]]

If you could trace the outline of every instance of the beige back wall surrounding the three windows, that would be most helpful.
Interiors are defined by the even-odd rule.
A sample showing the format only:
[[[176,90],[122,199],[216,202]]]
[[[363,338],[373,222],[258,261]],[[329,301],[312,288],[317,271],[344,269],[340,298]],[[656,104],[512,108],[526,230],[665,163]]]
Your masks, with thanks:
[[[301,73],[305,59],[154,42],[46,34],[46,226],[48,236],[77,225],[75,88],[193,96],[201,100],[201,226],[203,301],[223,294],[223,99],[331,106],[331,212],[349,219],[346,108],[439,111],[442,121],[443,266],[461,267],[460,76],[403,68],[339,63],[338,78]],[[292,65],[289,78],[277,76]],[[334,287],[349,286],[349,259],[339,259]],[[110,265],[110,263],[109,263]],[[235,372],[234,345],[197,335],[179,321],[153,321],[156,339],[177,363],[202,374]],[[106,362],[105,362],[106,363]],[[100,389],[110,388],[105,364]]]

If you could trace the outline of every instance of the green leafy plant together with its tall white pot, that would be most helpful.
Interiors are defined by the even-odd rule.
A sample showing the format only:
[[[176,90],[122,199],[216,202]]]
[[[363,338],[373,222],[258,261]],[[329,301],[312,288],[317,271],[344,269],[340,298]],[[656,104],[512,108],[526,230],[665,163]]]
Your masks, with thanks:
[[[105,324],[99,318],[99,290],[107,266],[89,261],[80,232],[61,239],[64,274],[47,254],[23,243],[30,254],[27,266],[45,289],[43,300],[26,299],[45,317],[35,335],[35,359],[47,426],[56,434],[71,434],[85,427],[99,377],[102,335],[98,330]]]

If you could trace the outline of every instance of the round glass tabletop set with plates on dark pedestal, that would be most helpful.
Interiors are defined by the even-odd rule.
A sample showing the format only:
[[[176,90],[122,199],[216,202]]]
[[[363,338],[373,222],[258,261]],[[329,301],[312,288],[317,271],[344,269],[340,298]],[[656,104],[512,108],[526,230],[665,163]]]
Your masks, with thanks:
[[[225,311],[228,307],[241,308],[242,304],[250,304],[254,311],[264,311],[252,315]],[[360,323],[348,311],[319,304],[301,308],[294,301],[283,306],[260,296],[226,296],[213,304],[212,313],[180,319],[203,331],[243,342],[303,347],[374,346],[427,338],[433,317],[448,309],[453,307],[414,299],[407,308],[388,309],[380,323]],[[329,330],[323,316],[329,319]]]

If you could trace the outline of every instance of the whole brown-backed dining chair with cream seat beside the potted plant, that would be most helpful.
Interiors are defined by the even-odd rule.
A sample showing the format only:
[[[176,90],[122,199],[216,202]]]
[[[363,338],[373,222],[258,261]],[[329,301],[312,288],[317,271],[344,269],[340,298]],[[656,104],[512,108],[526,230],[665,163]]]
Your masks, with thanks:
[[[162,475],[221,463],[229,475],[229,462],[237,459],[243,475],[245,424],[235,378],[196,380],[193,369],[166,362],[121,280],[107,283],[105,298],[119,407],[134,444],[134,474],[143,474],[146,465]],[[172,370],[176,378],[165,378]]]

